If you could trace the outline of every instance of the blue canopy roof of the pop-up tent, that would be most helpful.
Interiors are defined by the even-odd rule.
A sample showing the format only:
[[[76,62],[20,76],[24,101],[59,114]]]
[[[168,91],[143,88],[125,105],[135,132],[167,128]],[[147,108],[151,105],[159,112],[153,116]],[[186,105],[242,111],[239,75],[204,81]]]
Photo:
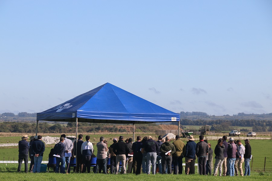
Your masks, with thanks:
[[[58,106],[37,113],[37,120],[96,123],[179,121],[180,115],[110,83],[96,87]]]

